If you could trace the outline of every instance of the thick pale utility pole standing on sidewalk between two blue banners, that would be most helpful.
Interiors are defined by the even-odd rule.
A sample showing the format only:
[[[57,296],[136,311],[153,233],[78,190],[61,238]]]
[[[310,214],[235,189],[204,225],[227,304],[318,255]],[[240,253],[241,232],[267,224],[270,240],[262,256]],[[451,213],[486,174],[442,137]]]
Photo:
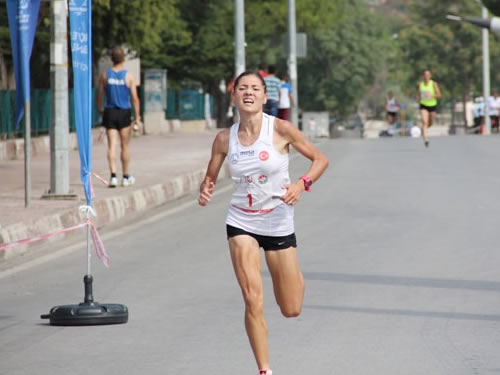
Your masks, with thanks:
[[[50,190],[47,199],[75,198],[69,193],[68,9],[66,0],[51,1]]]

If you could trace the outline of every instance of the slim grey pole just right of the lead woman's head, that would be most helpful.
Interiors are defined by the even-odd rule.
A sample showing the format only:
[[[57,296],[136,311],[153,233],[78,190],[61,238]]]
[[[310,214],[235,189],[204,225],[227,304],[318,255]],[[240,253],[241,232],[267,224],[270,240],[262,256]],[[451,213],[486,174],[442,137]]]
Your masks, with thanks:
[[[297,85],[297,27],[295,23],[295,0],[288,0],[288,75],[292,84],[295,107],[292,107],[292,124],[299,126],[299,87]]]

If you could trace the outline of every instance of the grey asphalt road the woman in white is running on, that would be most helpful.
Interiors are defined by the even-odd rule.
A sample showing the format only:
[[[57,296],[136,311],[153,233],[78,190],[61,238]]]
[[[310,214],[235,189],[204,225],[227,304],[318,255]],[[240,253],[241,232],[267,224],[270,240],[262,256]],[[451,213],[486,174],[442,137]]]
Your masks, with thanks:
[[[296,208],[299,318],[263,272],[274,374],[500,374],[500,137],[320,148],[331,168]],[[94,296],[126,304],[127,324],[39,318],[83,300],[81,244],[0,271],[0,374],[255,375],[220,190],[102,233],[112,264],[94,258]]]

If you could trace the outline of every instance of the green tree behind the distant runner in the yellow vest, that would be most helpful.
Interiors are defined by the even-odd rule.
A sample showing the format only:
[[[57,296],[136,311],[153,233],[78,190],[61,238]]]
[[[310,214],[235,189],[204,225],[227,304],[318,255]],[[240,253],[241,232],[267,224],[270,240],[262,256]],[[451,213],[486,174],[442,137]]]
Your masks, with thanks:
[[[465,101],[480,93],[482,85],[481,29],[466,22],[453,22],[447,14],[480,16],[480,4],[468,0],[413,1],[412,23],[400,32],[401,71],[405,88],[414,93],[425,69],[432,69],[445,101]],[[491,66],[500,63],[498,37],[490,37]],[[492,86],[499,83],[493,75]]]

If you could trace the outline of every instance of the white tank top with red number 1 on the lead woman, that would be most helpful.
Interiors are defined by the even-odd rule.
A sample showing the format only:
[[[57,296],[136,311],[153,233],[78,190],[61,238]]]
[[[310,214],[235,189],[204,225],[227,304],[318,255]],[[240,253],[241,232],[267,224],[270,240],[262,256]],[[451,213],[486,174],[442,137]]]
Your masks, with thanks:
[[[260,134],[250,146],[238,140],[239,123],[229,135],[229,171],[235,190],[226,224],[264,236],[287,236],[294,232],[293,207],[280,197],[290,183],[288,154],[273,145],[274,117],[263,114]]]

